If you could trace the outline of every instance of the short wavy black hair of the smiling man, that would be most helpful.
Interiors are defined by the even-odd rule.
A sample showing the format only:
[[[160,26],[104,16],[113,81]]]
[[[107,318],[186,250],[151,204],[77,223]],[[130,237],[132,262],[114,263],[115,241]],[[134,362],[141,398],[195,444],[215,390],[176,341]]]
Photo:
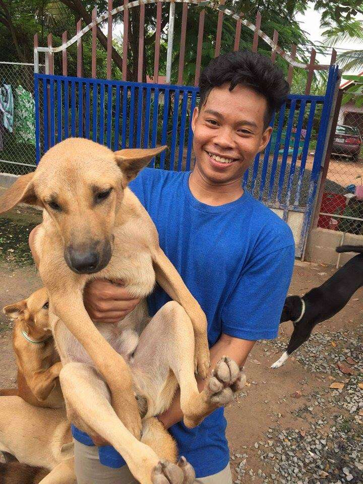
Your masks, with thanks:
[[[214,87],[226,82],[229,82],[230,91],[241,84],[266,98],[265,129],[270,123],[272,113],[281,107],[289,93],[289,85],[281,69],[268,57],[250,50],[228,52],[219,55],[208,64],[199,80],[199,105],[205,104]]]

